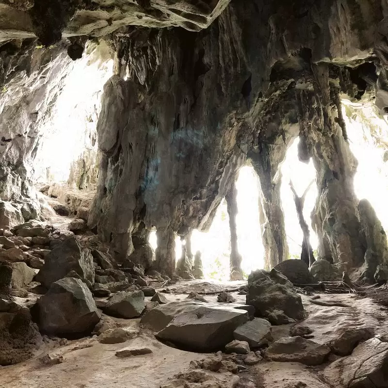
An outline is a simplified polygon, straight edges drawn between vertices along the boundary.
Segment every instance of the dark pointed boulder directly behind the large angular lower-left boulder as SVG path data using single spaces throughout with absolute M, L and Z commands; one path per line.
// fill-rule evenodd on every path
M 89 249 L 82 248 L 75 237 L 70 237 L 53 248 L 36 280 L 49 288 L 70 271 L 75 271 L 81 278 L 94 283 L 93 257 Z

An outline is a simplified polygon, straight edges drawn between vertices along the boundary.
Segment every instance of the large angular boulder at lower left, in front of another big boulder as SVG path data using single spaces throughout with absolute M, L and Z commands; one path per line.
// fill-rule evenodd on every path
M 92 293 L 80 279 L 66 277 L 51 284 L 38 301 L 39 327 L 63 336 L 89 334 L 100 320 Z

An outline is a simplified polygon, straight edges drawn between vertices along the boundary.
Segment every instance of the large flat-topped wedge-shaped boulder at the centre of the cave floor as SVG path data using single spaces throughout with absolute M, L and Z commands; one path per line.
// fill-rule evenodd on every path
M 194 302 L 187 309 L 189 303 L 184 303 L 181 312 L 157 333 L 159 339 L 197 352 L 219 350 L 233 340 L 233 331 L 248 321 L 248 313 L 244 310 Z M 171 311 L 169 305 L 171 303 L 155 307 L 147 315 L 163 310 L 163 307 Z

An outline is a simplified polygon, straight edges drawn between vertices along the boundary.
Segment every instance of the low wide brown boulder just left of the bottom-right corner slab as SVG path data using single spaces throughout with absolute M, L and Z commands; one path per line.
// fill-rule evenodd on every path
M 265 357 L 271 361 L 300 362 L 320 365 L 330 353 L 330 348 L 302 337 L 283 337 L 272 343 Z

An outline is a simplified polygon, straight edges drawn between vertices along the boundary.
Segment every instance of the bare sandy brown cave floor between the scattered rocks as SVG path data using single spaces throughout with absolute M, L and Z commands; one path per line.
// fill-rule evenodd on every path
M 168 301 L 182 300 L 190 291 L 213 292 L 234 289 L 244 282 L 215 283 L 205 281 L 182 281 L 170 286 L 171 294 L 165 294 Z M 236 303 L 245 301 L 244 295 L 233 292 Z M 206 295 L 209 301 L 216 301 L 217 294 Z M 149 300 L 150 298 L 146 298 Z M 307 311 L 304 324 L 313 331 L 313 340 L 329 343 L 344 336 L 347 330 L 360 327 L 373 328 L 374 335 L 388 341 L 388 308 L 372 298 L 360 298 L 354 294 L 323 294 L 323 302 L 340 301 L 348 307 L 325 307 L 310 302 L 302 295 Z M 259 364 L 239 373 L 236 384 L 230 372 L 209 372 L 206 383 L 189 382 L 181 384 L 173 379 L 182 372 L 190 372 L 190 362 L 210 355 L 186 352 L 169 347 L 153 334 L 139 327 L 140 319 L 119 320 L 122 326 L 137 328 L 140 335 L 125 343 L 102 344 L 97 338 L 69 340 L 63 346 L 58 341 L 47 342 L 36 356 L 17 365 L 0 368 L 0 388 L 329 388 L 322 373 L 328 363 L 339 356 L 330 356 L 326 364 L 307 367 L 293 362 L 270 362 L 263 359 Z M 274 339 L 289 335 L 292 324 L 273 326 Z M 152 354 L 118 358 L 115 352 L 124 349 L 148 347 Z M 62 356 L 57 365 L 42 365 L 39 358 L 45 354 Z M 214 380 L 211 379 L 214 376 Z

